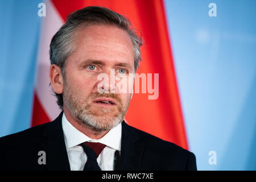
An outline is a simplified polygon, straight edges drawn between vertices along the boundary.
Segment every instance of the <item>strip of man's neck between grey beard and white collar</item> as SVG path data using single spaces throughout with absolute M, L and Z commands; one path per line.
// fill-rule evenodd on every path
M 63 111 L 69 123 L 71 123 L 71 125 L 73 125 L 77 130 L 79 130 L 81 133 L 85 134 L 87 137 L 91 139 L 100 139 L 109 132 L 109 130 L 94 131 L 90 129 L 90 127 L 83 125 L 75 117 L 73 117 L 73 114 L 67 109 L 67 107 L 64 107 Z

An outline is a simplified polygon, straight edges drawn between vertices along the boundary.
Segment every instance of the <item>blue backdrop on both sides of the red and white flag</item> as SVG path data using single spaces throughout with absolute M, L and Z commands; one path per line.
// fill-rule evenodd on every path
M 0 137 L 30 127 L 40 2 L 0 1 Z M 208 15 L 212 2 L 216 17 Z M 255 170 L 256 1 L 164 4 L 197 168 Z M 216 151 L 216 165 L 208 163 L 209 151 Z

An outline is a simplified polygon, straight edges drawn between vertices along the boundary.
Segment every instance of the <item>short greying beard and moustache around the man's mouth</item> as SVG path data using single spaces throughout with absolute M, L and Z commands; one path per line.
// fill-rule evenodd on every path
M 71 111 L 73 117 L 77 119 L 82 125 L 88 126 L 90 129 L 96 132 L 108 131 L 113 129 L 125 118 L 126 111 L 129 106 L 129 102 L 123 107 L 121 99 L 117 94 L 113 93 L 92 93 L 88 97 L 80 97 L 79 92 L 72 92 L 69 85 L 64 81 L 64 92 L 63 101 L 67 105 L 69 111 Z M 90 104 L 93 100 L 98 97 L 110 97 L 115 100 L 115 105 L 117 106 L 118 113 L 114 114 L 113 117 L 108 115 L 111 114 L 113 108 L 102 108 L 100 111 L 90 109 Z

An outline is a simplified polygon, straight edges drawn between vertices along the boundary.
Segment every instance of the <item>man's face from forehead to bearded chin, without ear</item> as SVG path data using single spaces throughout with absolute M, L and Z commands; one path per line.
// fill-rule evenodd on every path
M 129 35 L 114 26 L 92 25 L 75 32 L 76 51 L 65 68 L 63 100 L 73 116 L 95 131 L 110 130 L 125 117 L 131 93 L 110 93 L 118 90 L 110 82 L 110 69 L 115 75 L 134 73 L 133 44 Z M 97 77 L 105 73 L 109 82 L 99 88 Z M 127 82 L 127 87 L 133 82 Z M 101 91 L 102 91 L 101 90 Z

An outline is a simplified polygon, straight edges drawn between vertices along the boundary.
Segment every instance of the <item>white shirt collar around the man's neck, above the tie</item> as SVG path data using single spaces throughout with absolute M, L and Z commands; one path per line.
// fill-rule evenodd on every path
M 100 139 L 91 139 L 85 134 L 77 130 L 68 119 L 65 117 L 65 113 L 62 116 L 62 127 L 64 133 L 65 144 L 67 148 L 72 148 L 80 143 L 84 142 L 100 142 L 108 147 L 114 148 L 115 150 L 121 151 L 121 135 L 122 125 L 119 123 L 113 129 L 111 129 L 104 137 Z

